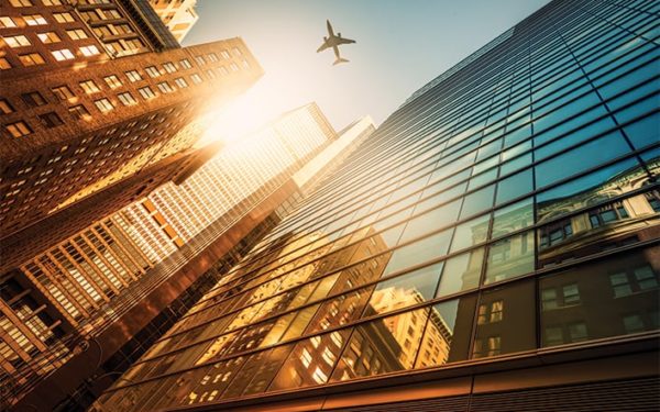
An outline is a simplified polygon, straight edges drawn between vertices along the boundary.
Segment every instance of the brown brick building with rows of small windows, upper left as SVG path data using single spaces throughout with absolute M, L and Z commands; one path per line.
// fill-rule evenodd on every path
M 174 178 L 189 124 L 263 73 L 240 38 L 180 48 L 141 1 L 12 0 L 0 24 L 3 271 Z

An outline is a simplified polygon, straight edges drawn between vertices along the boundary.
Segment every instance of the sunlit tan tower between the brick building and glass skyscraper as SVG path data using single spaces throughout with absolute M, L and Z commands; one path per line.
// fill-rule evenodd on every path
M 338 142 L 352 148 L 346 137 L 362 143 L 373 130 L 363 120 L 338 136 L 315 103 L 293 110 L 219 145 L 179 186 L 157 189 L 6 274 L 6 404 L 91 403 L 280 221 L 297 170 L 332 165 L 333 157 L 315 156 Z M 258 163 L 245 165 L 248 157 Z

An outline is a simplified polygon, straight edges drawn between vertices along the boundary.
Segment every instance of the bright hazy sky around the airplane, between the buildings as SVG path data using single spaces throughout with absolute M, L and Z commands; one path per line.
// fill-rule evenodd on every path
M 183 45 L 242 37 L 265 75 L 217 116 L 229 141 L 280 113 L 317 102 L 336 130 L 363 115 L 376 125 L 415 90 L 508 30 L 548 0 L 198 0 Z M 350 63 L 332 66 L 334 33 Z

